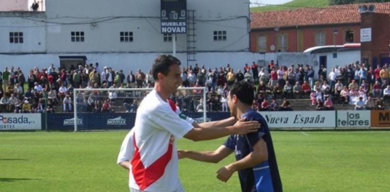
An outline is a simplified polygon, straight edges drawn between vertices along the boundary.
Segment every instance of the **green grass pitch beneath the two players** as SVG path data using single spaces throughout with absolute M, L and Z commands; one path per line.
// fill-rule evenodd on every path
M 0 191 L 128 191 L 127 171 L 116 165 L 125 131 L 0 132 Z M 387 191 L 389 131 L 272 131 L 285 191 Z M 214 150 L 224 139 L 179 149 Z M 240 191 L 215 172 L 233 161 L 179 161 L 186 191 Z

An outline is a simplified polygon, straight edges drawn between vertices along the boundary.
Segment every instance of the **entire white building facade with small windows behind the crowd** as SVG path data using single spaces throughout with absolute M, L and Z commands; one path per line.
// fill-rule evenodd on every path
M 84 57 L 126 73 L 147 71 L 157 55 L 172 53 L 174 35 L 160 31 L 160 1 L 51 0 L 42 7 L 46 11 L 0 12 L 2 68 L 20 66 L 26 73 L 34 66 L 60 67 L 60 57 Z M 197 61 L 189 65 L 238 69 L 258 60 L 249 52 L 249 0 L 187 1 L 187 10 L 196 17 Z M 176 50 L 186 65 L 186 34 L 177 34 Z

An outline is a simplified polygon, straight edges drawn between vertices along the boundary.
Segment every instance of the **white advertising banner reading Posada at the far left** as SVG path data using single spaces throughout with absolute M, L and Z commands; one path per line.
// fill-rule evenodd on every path
M 0 130 L 41 130 L 40 113 L 0 113 Z

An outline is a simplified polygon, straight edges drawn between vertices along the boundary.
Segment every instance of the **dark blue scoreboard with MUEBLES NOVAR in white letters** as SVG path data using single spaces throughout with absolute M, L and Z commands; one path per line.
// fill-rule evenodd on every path
M 161 33 L 187 32 L 186 0 L 161 0 Z

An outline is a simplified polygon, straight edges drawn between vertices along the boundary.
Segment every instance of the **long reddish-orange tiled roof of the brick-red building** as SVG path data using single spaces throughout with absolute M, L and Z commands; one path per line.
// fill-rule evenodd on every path
M 390 3 L 371 3 L 375 5 L 376 13 L 390 14 Z M 283 11 L 268 11 L 251 13 L 252 29 L 275 27 L 295 27 L 324 24 L 360 23 L 360 5 L 352 4 L 329 6 L 323 8 L 300 8 Z

